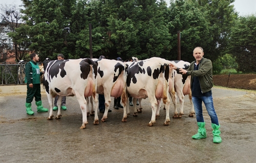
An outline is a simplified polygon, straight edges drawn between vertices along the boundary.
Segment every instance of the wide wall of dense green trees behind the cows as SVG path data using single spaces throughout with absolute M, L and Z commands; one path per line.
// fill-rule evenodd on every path
M 132 56 L 139 59 L 177 59 L 177 31 L 181 31 L 181 59 L 194 61 L 192 51 L 204 48 L 214 62 L 227 50 L 231 26 L 237 18 L 233 0 L 22 0 L 25 25 L 11 37 L 27 42 L 40 60 L 90 57 L 92 24 L 94 58 Z M 26 38 L 26 36 L 29 36 Z

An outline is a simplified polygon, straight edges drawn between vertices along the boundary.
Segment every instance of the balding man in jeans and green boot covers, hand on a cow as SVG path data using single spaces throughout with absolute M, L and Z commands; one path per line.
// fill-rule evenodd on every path
M 204 58 L 204 52 L 202 47 L 196 47 L 193 50 L 193 56 L 196 61 L 193 61 L 187 70 L 178 68 L 173 64 L 169 64 L 171 69 L 177 70 L 178 73 L 191 75 L 191 92 L 194 108 L 196 111 L 198 133 L 193 135 L 193 139 L 206 138 L 205 122 L 203 118 L 202 102 L 206 107 L 208 115 L 211 119 L 211 127 L 214 129 L 214 143 L 221 143 L 220 137 L 220 125 L 217 114 L 214 109 L 214 102 L 212 101 L 212 63 L 210 60 Z

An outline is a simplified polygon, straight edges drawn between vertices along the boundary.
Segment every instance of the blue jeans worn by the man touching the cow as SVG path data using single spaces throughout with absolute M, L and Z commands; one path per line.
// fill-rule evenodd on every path
M 208 115 L 210 116 L 211 123 L 219 125 L 218 117 L 214 109 L 214 102 L 212 101 L 212 95 L 202 97 L 192 97 L 194 108 L 197 116 L 197 122 L 204 122 L 202 101 L 206 107 Z

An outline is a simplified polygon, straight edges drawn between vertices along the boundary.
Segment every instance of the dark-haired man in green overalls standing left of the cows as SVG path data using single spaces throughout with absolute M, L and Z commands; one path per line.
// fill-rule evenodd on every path
M 25 83 L 27 83 L 26 110 L 28 115 L 33 115 L 34 112 L 31 110 L 31 102 L 34 97 L 37 112 L 48 112 L 48 109 L 42 106 L 41 101 L 40 75 L 42 75 L 42 72 L 40 72 L 39 66 L 37 65 L 39 57 L 37 53 L 32 53 L 30 58 L 31 61 L 28 62 L 25 67 Z

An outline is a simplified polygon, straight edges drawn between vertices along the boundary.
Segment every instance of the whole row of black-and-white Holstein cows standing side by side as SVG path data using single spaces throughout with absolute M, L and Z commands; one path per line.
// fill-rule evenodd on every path
M 59 95 L 56 119 L 60 119 L 60 105 L 62 96 L 76 96 L 81 111 L 81 129 L 88 124 L 87 117 L 94 115 L 94 124 L 99 124 L 98 98 L 96 94 L 102 94 L 105 98 L 105 112 L 101 122 L 108 118 L 111 97 L 121 96 L 123 104 L 122 122 L 127 121 L 130 115 L 129 97 L 133 99 L 133 115 L 141 112 L 136 108 L 137 98 L 148 98 L 152 107 L 152 118 L 148 126 L 153 126 L 159 116 L 161 102 L 164 103 L 166 117 L 164 125 L 169 125 L 170 97 L 174 103 L 173 118 L 181 118 L 183 115 L 184 95 L 189 95 L 191 110 L 189 116 L 194 116 L 194 106 L 191 100 L 190 76 L 178 74 L 176 70 L 169 68 L 169 63 L 176 64 L 179 68 L 188 68 L 190 63 L 184 61 L 167 61 L 162 58 L 150 58 L 138 60 L 131 58 L 129 62 L 121 62 L 108 59 L 76 59 L 53 60 L 46 59 L 43 62 L 46 94 L 49 100 L 50 113 L 48 120 L 53 119 L 53 97 Z M 180 112 L 177 109 L 177 96 L 180 101 Z M 169 94 L 169 95 L 168 95 Z M 89 109 L 89 97 L 91 107 Z

